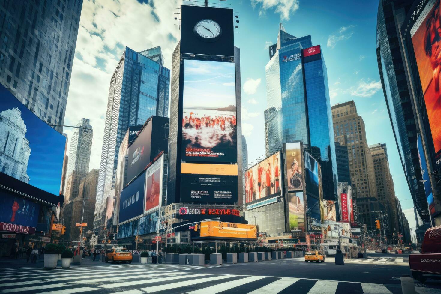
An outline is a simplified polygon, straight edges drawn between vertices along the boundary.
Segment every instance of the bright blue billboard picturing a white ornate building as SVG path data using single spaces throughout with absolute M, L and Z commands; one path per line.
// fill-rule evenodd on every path
M 66 137 L 2 85 L 0 97 L 0 172 L 59 196 Z

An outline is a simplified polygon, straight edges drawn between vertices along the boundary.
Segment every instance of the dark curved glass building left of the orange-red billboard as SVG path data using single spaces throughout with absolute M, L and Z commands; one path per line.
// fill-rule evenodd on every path
M 427 200 L 421 182 L 417 134 L 409 71 L 404 60 L 400 29 L 413 0 L 380 0 L 377 14 L 377 63 L 393 134 L 404 175 L 419 216 L 428 221 Z

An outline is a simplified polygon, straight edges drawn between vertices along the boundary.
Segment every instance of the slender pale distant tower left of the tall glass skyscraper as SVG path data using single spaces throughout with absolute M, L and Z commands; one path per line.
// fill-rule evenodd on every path
M 70 139 L 69 161 L 67 162 L 66 175 L 69 179 L 73 171 L 89 172 L 90 153 L 92 152 L 93 129 L 90 119 L 82 118 L 76 125 L 85 129 L 75 128 Z M 67 182 L 66 182 L 67 185 Z M 64 188 L 65 189 L 65 188 Z

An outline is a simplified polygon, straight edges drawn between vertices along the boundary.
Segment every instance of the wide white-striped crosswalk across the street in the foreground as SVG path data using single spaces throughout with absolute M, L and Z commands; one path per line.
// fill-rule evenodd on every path
M 0 270 L 1 293 L 392 293 L 381 284 L 261 275 L 218 274 L 222 266 L 131 264 L 72 266 L 69 269 L 8 268 Z M 203 271 L 196 271 L 201 269 Z

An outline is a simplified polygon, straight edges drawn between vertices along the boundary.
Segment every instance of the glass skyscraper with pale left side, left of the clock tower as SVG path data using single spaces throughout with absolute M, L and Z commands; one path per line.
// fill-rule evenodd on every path
M 170 70 L 161 47 L 135 52 L 126 47 L 110 81 L 93 230 L 99 234 L 106 198 L 115 188 L 121 141 L 128 127 L 152 116 L 168 116 Z

